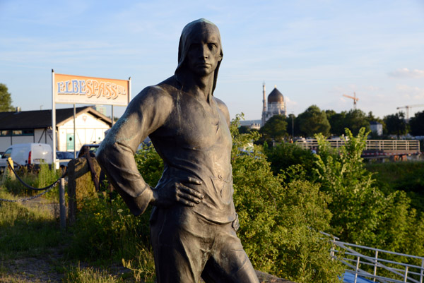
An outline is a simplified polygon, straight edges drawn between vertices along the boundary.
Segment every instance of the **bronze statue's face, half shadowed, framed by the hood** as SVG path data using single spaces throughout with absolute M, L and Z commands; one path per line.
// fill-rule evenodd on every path
M 221 61 L 219 34 L 211 25 L 202 25 L 191 38 L 187 53 L 187 67 L 192 73 L 207 76 Z

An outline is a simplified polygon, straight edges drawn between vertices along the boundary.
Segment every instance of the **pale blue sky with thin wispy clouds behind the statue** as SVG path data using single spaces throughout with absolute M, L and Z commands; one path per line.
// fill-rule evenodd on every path
M 134 97 L 172 76 L 181 30 L 198 18 L 220 29 L 215 95 L 232 117 L 260 119 L 263 82 L 295 115 L 312 104 L 348 111 L 353 100 L 343 94 L 353 92 L 358 109 L 381 118 L 424 104 L 423 0 L 0 0 L 0 83 L 22 110 L 51 109 L 52 68 L 131 76 Z

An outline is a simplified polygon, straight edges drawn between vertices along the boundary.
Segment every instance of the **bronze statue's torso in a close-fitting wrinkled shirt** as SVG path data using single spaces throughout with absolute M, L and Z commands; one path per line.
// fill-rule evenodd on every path
M 165 124 L 150 134 L 165 163 L 158 188 L 170 180 L 184 183 L 188 176 L 200 179 L 202 185 L 189 186 L 203 193 L 204 199 L 184 209 L 192 209 L 213 222 L 231 222 L 235 219 L 232 140 L 223 112 L 213 98 L 209 103 L 169 85 L 160 88 L 169 93 L 173 105 Z

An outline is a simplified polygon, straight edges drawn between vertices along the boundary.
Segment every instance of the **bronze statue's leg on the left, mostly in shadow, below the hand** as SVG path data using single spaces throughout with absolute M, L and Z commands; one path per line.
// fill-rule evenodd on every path
M 151 241 L 158 283 L 198 283 L 210 256 L 208 239 L 196 216 L 156 207 L 151 221 Z M 206 233 L 204 233 L 206 232 Z

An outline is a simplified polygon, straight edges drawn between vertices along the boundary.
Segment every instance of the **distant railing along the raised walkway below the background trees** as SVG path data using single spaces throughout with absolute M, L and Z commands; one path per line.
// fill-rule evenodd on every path
M 346 140 L 326 140 L 331 147 L 341 147 L 346 145 Z M 296 144 L 302 148 L 312 149 L 318 147 L 316 139 L 296 140 Z M 367 140 L 365 150 L 407 150 L 420 152 L 419 140 Z

